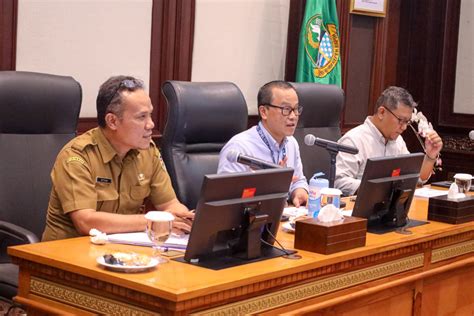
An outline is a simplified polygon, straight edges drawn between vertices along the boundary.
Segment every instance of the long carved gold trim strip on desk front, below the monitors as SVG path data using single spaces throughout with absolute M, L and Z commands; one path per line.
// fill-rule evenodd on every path
M 247 315 L 260 313 L 276 307 L 296 303 L 312 297 L 371 282 L 397 273 L 423 266 L 424 256 L 418 254 L 408 258 L 387 262 L 370 268 L 344 273 L 300 286 L 261 295 L 245 301 L 212 308 L 192 315 Z

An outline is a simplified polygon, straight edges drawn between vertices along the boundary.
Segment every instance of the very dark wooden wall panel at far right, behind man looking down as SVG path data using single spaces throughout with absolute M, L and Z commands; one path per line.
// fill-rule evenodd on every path
M 398 82 L 419 102 L 444 142 L 443 170 L 432 180 L 473 172 L 474 141 L 468 133 L 474 129 L 474 115 L 453 110 L 460 5 L 461 0 L 404 0 L 400 7 Z M 418 146 L 416 141 L 408 145 L 410 150 Z

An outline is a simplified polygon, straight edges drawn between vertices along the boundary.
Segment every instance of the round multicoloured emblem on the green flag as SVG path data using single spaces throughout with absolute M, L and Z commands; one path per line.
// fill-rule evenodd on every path
M 321 14 L 313 15 L 305 26 L 304 48 L 311 60 L 313 74 L 326 77 L 337 65 L 340 55 L 339 36 L 335 24 L 323 23 Z

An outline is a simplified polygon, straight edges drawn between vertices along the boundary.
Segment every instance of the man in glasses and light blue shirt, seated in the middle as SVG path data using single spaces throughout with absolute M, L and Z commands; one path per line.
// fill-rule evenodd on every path
M 258 92 L 258 125 L 235 135 L 222 148 L 218 173 L 250 170 L 238 162 L 227 160 L 233 150 L 275 164 L 293 168 L 290 201 L 294 206 L 308 201 L 308 183 L 303 174 L 298 142 L 293 137 L 303 107 L 298 104 L 296 91 L 288 82 L 271 81 Z

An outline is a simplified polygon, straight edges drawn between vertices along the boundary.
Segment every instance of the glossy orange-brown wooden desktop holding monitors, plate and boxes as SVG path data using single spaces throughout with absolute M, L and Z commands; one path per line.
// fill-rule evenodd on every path
M 426 219 L 426 213 L 427 200 L 415 199 L 409 213 L 410 217 Z M 469 241 L 473 239 L 474 224 L 471 222 L 451 225 L 430 222 L 411 230 L 413 231 L 411 235 L 395 232 L 384 235 L 369 233 L 365 247 L 332 255 L 299 251 L 299 254 L 302 255 L 300 260 L 280 257 L 219 271 L 175 261 L 142 273 L 126 274 L 108 271 L 96 263 L 98 256 L 111 250 L 133 250 L 151 255 L 152 250 L 129 245 L 93 245 L 89 242 L 88 237 L 11 247 L 9 254 L 20 265 L 20 273 L 25 274 L 32 263 L 37 265 L 33 272 L 28 270 L 28 279 L 23 282 L 31 282 L 30 274 L 32 276 L 37 274 L 46 280 L 57 279 L 59 274 L 48 270 L 54 268 L 70 273 L 70 275 L 97 280 L 103 284 L 119 285 L 121 288 L 132 290 L 132 292 L 146 293 L 146 295 L 160 298 L 160 306 L 171 304 L 173 305 L 171 309 L 176 311 L 186 310 L 189 307 L 202 308 L 204 305 L 215 306 L 222 304 L 222 302 L 232 302 L 234 298 L 235 300 L 248 298 L 252 295 L 268 293 L 272 289 L 282 289 L 290 284 L 308 282 L 315 277 L 330 275 L 336 270 L 339 272 L 350 271 L 368 267 L 371 264 L 380 265 L 404 256 L 423 256 L 425 254 L 425 257 L 421 259 L 421 265 L 423 265 L 429 259 L 426 258 L 427 243 L 431 242 L 430 248 L 436 248 L 454 242 Z M 280 231 L 277 237 L 285 247 L 293 248 L 292 234 Z M 67 284 L 70 278 L 66 277 L 59 282 Z M 32 296 L 29 292 L 31 284 L 22 284 L 19 297 L 31 299 Z M 84 284 L 82 288 L 84 288 Z M 184 305 L 177 307 L 180 302 Z

